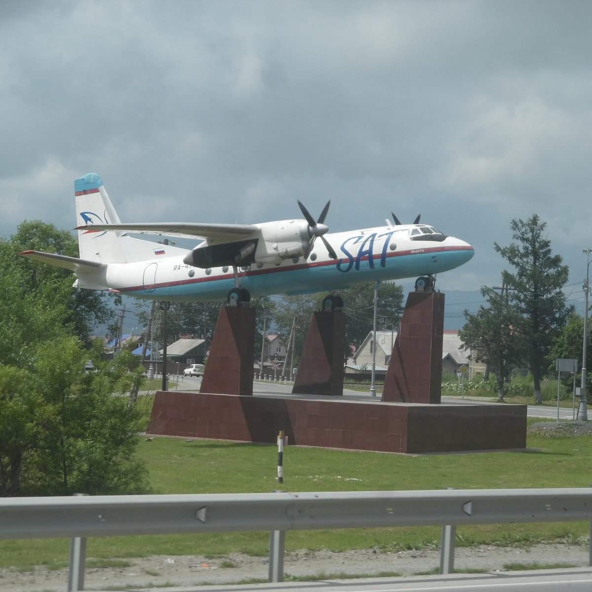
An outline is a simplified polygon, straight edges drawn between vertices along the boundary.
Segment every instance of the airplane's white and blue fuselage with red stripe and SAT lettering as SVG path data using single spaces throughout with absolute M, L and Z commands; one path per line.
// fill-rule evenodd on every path
M 303 257 L 281 263 L 253 263 L 239 268 L 243 288 L 253 296 L 335 291 L 359 282 L 386 281 L 449 271 L 474 255 L 470 244 L 451 236 L 438 240 L 414 237 L 414 226 L 383 226 L 326 234 L 337 253 L 329 258 L 323 244 Z M 432 240 L 427 240 L 432 239 Z M 106 268 L 78 272 L 79 286 L 115 289 L 134 297 L 156 300 L 224 300 L 234 286 L 228 266 L 201 269 L 179 256 L 167 256 L 166 246 L 154 259 L 109 263 Z

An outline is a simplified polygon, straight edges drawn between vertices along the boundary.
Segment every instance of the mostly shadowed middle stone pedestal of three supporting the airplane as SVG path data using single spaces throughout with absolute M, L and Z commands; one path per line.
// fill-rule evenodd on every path
M 345 314 L 314 313 L 294 379 L 294 394 L 343 395 Z

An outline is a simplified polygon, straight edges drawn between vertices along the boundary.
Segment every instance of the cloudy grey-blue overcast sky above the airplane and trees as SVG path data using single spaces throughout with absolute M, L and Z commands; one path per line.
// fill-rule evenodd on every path
M 101 175 L 123 221 L 333 231 L 391 210 L 475 247 L 438 287 L 498 285 L 512 218 L 548 223 L 583 308 L 592 2 L 0 2 L 0 235 L 75 226 Z

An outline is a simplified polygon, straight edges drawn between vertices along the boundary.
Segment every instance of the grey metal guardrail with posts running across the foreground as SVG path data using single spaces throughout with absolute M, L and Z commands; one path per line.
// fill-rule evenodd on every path
M 69 590 L 83 589 L 91 536 L 269 530 L 269 578 L 281 581 L 287 530 L 447 527 L 440 571 L 448 573 L 450 525 L 580 520 L 592 522 L 591 488 L 0 498 L 1 539 L 72 539 Z

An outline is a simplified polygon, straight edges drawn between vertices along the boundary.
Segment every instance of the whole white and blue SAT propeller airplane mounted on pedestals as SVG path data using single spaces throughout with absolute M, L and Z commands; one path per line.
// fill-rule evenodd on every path
M 343 302 L 333 292 L 352 284 L 418 276 L 416 290 L 433 291 L 436 274 L 474 255 L 470 244 L 421 224 L 419 216 L 401 224 L 393 213 L 386 226 L 329 233 L 330 201 L 317 220 L 298 201 L 303 219 L 123 224 L 99 175 L 76 179 L 74 188 L 79 258 L 36 250 L 20 255 L 70 269 L 76 287 L 150 300 L 248 305 L 251 295 L 329 291 L 324 310 L 338 310 Z M 129 233 L 199 241 L 184 249 Z

